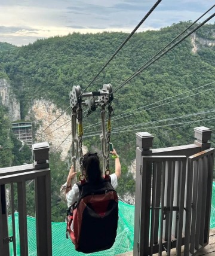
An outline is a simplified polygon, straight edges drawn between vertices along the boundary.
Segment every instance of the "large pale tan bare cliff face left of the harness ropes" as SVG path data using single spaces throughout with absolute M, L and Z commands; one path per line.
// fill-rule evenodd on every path
M 26 118 L 35 120 L 35 125 L 38 127 L 36 129 L 35 142 L 47 141 L 50 144 L 50 151 L 55 151 L 56 149 L 57 151 L 62 151 L 61 157 L 64 160 L 70 149 L 72 136 L 69 135 L 71 133 L 70 115 L 64 113 L 56 120 L 62 112 L 63 109 L 58 109 L 54 103 L 41 99 L 33 102 Z M 56 121 L 51 124 L 54 120 Z M 51 126 L 43 132 L 49 124 Z M 62 126 L 63 124 L 65 125 Z M 67 136 L 68 138 L 66 139 Z M 66 140 L 64 141 L 64 139 Z M 83 152 L 85 153 L 85 151 L 84 148 Z

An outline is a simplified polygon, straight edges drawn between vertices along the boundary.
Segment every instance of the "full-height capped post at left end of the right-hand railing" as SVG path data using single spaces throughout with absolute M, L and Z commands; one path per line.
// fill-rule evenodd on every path
M 152 155 L 153 136 L 148 132 L 136 133 L 136 193 L 134 213 L 134 256 L 148 255 L 149 219 L 151 204 L 151 166 L 143 166 L 142 156 Z M 150 163 L 151 164 L 151 163 Z

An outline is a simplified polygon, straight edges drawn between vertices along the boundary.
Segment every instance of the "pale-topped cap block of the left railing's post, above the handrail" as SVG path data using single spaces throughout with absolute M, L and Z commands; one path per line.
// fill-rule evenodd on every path
M 35 170 L 48 168 L 48 153 L 50 150 L 50 145 L 48 142 L 35 143 L 32 145 L 32 150 L 34 155 Z

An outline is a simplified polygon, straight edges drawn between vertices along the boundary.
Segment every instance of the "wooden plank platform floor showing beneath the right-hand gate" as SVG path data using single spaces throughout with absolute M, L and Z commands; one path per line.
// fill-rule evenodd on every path
M 167 255 L 166 252 L 162 252 L 162 256 Z M 171 256 L 176 255 L 176 249 L 171 249 Z M 183 248 L 182 248 L 182 256 Z M 202 249 L 196 256 L 207 255 L 207 256 L 215 256 L 215 228 L 210 230 L 210 239 L 209 244 Z M 119 254 L 116 256 L 133 256 L 133 252 L 125 252 L 124 254 Z M 153 254 L 153 256 L 158 256 L 158 254 Z

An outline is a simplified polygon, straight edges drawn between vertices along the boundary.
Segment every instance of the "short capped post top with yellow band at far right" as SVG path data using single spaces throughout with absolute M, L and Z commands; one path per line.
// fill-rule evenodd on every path
M 200 126 L 200 127 L 195 127 L 194 132 L 195 132 L 195 139 L 196 139 L 194 144 L 200 146 L 201 151 L 208 150 L 208 148 L 210 148 L 211 146 L 210 142 L 208 141 L 211 139 L 212 130 L 204 126 Z

